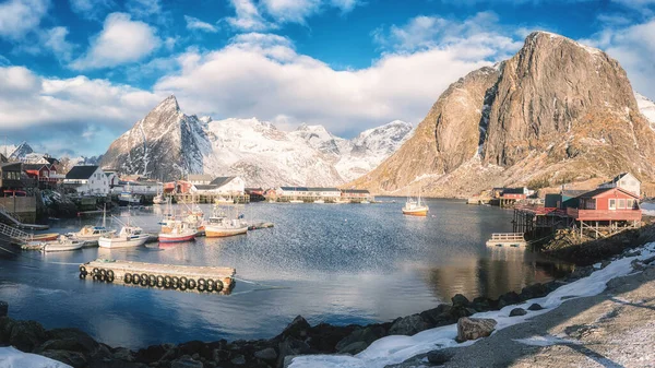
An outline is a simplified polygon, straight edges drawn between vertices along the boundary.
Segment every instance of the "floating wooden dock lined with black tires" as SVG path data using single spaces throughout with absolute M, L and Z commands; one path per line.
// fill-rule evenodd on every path
M 224 295 L 235 287 L 235 274 L 236 270 L 231 268 L 100 259 L 80 264 L 80 278 L 91 277 L 97 282 Z

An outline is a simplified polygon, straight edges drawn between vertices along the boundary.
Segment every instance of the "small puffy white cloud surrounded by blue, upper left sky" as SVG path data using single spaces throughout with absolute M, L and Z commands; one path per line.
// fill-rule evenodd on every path
M 132 21 L 129 14 L 107 15 L 103 31 L 92 39 L 86 54 L 74 60 L 74 70 L 100 69 L 135 62 L 151 55 L 162 40 L 150 25 Z

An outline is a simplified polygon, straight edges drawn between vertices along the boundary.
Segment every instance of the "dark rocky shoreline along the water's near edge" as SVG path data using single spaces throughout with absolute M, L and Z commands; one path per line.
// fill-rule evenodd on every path
M 0 345 L 12 345 L 25 353 L 39 354 L 75 368 L 182 368 L 182 367 L 285 367 L 289 356 L 307 354 L 350 354 L 366 349 L 373 341 L 388 335 L 414 335 L 420 331 L 457 323 L 481 311 L 543 297 L 568 282 L 584 277 L 593 268 L 579 268 L 563 281 L 535 284 L 521 293 L 510 292 L 498 299 L 478 297 L 468 300 L 455 295 L 452 304 L 441 304 L 392 322 L 360 325 L 310 325 L 298 316 L 277 336 L 270 340 L 227 342 L 190 341 L 181 344 L 152 345 L 139 351 L 111 347 L 96 342 L 78 329 L 45 330 L 35 321 L 8 317 L 8 306 L 0 308 Z M 538 309 L 539 306 L 533 308 Z M 516 310 L 520 316 L 521 310 Z M 285 361 L 286 360 L 286 361 Z

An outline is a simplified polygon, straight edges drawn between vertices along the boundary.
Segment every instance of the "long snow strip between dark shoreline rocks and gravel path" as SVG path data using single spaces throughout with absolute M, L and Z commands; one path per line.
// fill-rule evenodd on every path
M 575 297 L 588 297 L 600 294 L 608 281 L 628 275 L 632 272 L 630 264 L 634 259 L 646 259 L 655 254 L 655 242 L 643 247 L 641 256 L 627 257 L 609 263 L 605 269 L 595 271 L 590 276 L 563 285 L 549 295 L 527 300 L 520 305 L 507 306 L 501 310 L 475 313 L 474 318 L 492 318 L 498 324 L 496 330 L 523 323 L 532 317 L 547 313 L 559 307 L 564 300 Z M 508 317 L 514 308 L 527 309 L 537 302 L 544 307 L 539 311 L 531 311 L 525 316 Z M 382 368 L 386 365 L 400 364 L 416 355 L 445 347 L 467 346 L 475 342 L 457 344 L 457 325 L 451 324 L 426 330 L 414 336 L 386 336 L 373 342 L 366 351 L 355 356 L 343 355 L 309 355 L 294 358 L 289 368 Z M 524 342 L 525 343 L 525 342 Z M 545 344 L 547 342 L 533 341 Z

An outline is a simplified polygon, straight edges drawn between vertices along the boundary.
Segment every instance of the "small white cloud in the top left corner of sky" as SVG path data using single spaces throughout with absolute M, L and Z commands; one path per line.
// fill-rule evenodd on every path
M 40 24 L 49 0 L 9 0 L 0 3 L 0 37 L 20 39 Z

